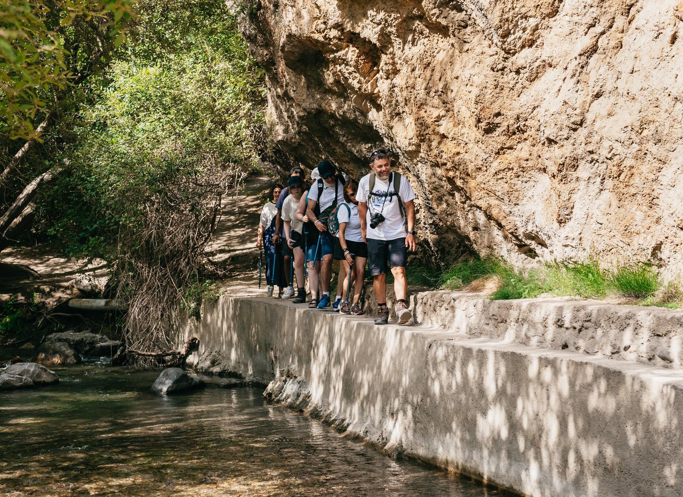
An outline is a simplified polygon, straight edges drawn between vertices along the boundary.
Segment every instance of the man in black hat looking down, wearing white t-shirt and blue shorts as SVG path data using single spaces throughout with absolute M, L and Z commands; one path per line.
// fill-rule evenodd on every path
M 332 261 L 335 238 L 327 231 L 327 218 L 339 202 L 344 202 L 344 179 L 337 175 L 337 170 L 330 161 L 318 164 L 320 179 L 311 185 L 308 192 L 306 215 L 310 227 L 308 230 L 306 260 L 313 260 L 322 256 L 320 265 L 320 284 L 322 297 L 317 304 L 318 309 L 330 306 L 330 280 L 332 278 Z M 317 236 L 316 236 L 317 234 Z M 313 301 L 309 307 L 313 306 Z

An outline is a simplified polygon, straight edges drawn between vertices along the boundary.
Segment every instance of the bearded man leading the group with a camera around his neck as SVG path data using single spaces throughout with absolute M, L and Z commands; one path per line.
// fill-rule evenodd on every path
M 389 321 L 389 260 L 396 293 L 394 310 L 398 324 L 402 325 L 413 317 L 406 301 L 406 252 L 415 250 L 415 192 L 407 178 L 391 171 L 391 159 L 387 150 L 375 150 L 370 154 L 370 168 L 372 173 L 366 174 L 359 181 L 356 198 L 363 239 L 367 242 L 367 262 L 373 279 L 372 286 L 377 298 L 375 324 L 385 325 Z

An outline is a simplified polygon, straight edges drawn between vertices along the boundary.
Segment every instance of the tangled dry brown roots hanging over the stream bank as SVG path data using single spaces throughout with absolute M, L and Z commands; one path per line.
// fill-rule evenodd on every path
M 242 183 L 245 170 L 209 167 L 201 176 L 176 178 L 144 192 L 137 203 L 143 222 L 120 237 L 115 268 L 117 294 L 128 303 L 124 340 L 128 349 L 173 349 L 180 340 L 186 290 L 211 270 L 204 249 L 229 187 Z M 137 367 L 156 367 L 154 358 L 137 357 Z

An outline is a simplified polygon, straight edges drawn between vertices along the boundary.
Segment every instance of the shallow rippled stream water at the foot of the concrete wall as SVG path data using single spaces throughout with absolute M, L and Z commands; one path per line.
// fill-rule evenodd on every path
M 499 496 L 289 409 L 262 389 L 155 397 L 156 372 L 57 368 L 0 392 L 0 496 Z

